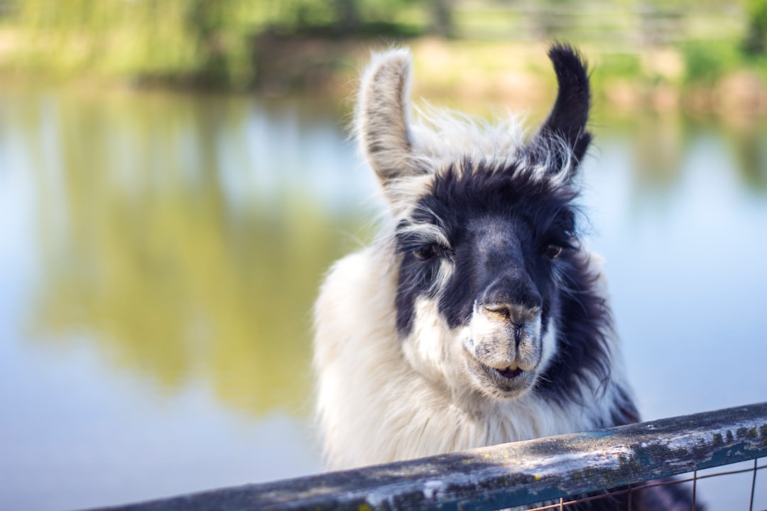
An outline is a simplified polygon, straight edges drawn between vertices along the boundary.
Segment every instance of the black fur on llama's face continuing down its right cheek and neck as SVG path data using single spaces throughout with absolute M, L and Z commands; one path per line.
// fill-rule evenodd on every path
M 462 167 L 463 172 L 449 169 L 436 176 L 410 223 L 400 225 L 400 335 L 413 328 L 418 296 L 437 297 L 439 312 L 456 328 L 469 322 L 475 301 L 492 280 L 504 272 L 525 274 L 518 280 L 520 292 L 537 294 L 543 324 L 553 315 L 558 328 L 558 354 L 537 391 L 555 400 L 579 400 L 575 389 L 580 386 L 574 382 L 587 375 L 609 377 L 606 336 L 611 334 L 611 316 L 595 289 L 588 260 L 575 248 L 577 192 L 514 166 L 479 165 L 475 172 L 468 171 L 467 162 Z M 412 224 L 439 227 L 449 245 L 413 234 Z M 563 247 L 555 260 L 545 253 L 551 245 Z M 436 276 L 443 260 L 449 261 L 452 274 L 438 290 Z M 625 409 L 615 415 L 623 424 L 636 411 L 626 400 Z

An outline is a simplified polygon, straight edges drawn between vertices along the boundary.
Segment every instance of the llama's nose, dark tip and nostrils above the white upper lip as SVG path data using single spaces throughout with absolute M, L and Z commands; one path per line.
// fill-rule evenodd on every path
M 496 321 L 522 324 L 541 313 L 543 300 L 529 278 L 508 276 L 495 280 L 482 293 L 479 310 Z

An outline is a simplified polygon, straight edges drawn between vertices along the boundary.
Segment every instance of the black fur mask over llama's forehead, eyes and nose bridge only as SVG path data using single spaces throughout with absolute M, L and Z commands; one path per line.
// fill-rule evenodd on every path
M 535 275 L 535 293 L 550 296 L 554 268 L 543 253 L 551 244 L 572 247 L 574 193 L 569 188 L 541 182 L 513 167 L 496 172 L 483 168 L 471 172 L 467 167 L 464 162 L 463 172 L 450 169 L 436 177 L 410 224 L 398 230 L 402 262 L 397 326 L 403 335 L 412 327 L 416 297 L 436 296 L 434 279 L 444 259 L 452 265 L 453 276 L 439 296 L 439 310 L 455 328 L 469 321 L 473 304 L 489 280 L 514 264 Z M 439 246 L 403 229 L 412 224 L 437 226 L 449 245 Z M 420 260 L 416 251 L 425 247 L 434 257 Z M 543 302 L 550 309 L 550 301 Z

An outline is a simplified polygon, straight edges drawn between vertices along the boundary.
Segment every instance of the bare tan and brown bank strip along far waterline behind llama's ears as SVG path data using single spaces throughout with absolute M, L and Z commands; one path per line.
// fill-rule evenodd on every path
M 414 38 L 413 94 L 482 110 L 502 104 L 537 110 L 555 88 L 548 42 Z M 636 50 L 579 44 L 588 58 L 595 103 L 617 110 L 767 114 L 767 65 L 744 57 L 735 42 L 686 43 Z M 261 81 L 267 95 L 301 93 L 347 97 L 359 67 L 380 41 L 274 40 L 262 45 Z M 268 49 L 267 49 L 268 48 Z

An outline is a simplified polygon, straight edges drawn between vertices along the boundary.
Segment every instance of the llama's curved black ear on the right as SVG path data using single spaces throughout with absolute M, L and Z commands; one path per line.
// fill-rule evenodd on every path
M 559 172 L 565 165 L 574 169 L 591 142 L 591 133 L 586 130 L 591 90 L 587 66 L 578 51 L 566 44 L 555 44 L 549 49 L 548 57 L 554 64 L 559 90 L 554 108 L 532 140 L 530 149 L 534 160 L 543 157 L 556 167 L 550 172 Z M 566 144 L 569 155 L 562 154 L 561 149 L 565 148 L 561 142 Z

